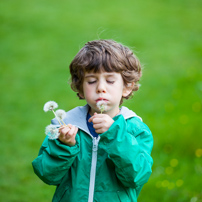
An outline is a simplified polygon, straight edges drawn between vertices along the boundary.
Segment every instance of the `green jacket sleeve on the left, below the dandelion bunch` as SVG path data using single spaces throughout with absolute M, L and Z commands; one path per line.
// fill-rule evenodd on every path
M 34 172 L 45 183 L 57 185 L 68 172 L 80 151 L 80 139 L 76 135 L 76 145 L 69 147 L 59 140 L 46 138 L 38 157 L 32 162 Z

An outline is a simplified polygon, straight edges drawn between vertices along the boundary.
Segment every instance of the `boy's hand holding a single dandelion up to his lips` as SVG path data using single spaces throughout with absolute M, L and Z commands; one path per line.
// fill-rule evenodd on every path
M 91 116 L 88 121 L 93 122 L 93 128 L 95 128 L 95 132 L 98 134 L 106 132 L 114 123 L 114 120 L 109 115 L 97 113 Z

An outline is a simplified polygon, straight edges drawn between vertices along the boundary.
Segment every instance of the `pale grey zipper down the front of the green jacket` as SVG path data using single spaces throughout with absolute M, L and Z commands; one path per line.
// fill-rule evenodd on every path
M 98 136 L 97 138 L 96 137 L 93 138 L 88 202 L 93 202 L 94 189 L 95 189 L 96 165 L 97 165 L 97 151 L 98 151 L 99 140 L 100 140 L 100 136 Z

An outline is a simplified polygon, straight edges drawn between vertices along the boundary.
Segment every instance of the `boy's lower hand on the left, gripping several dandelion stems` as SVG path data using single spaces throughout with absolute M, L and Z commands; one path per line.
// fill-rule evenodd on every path
M 76 144 L 75 137 L 77 132 L 78 128 L 71 124 L 68 124 L 67 126 L 61 126 L 59 128 L 60 135 L 58 139 L 68 146 L 74 146 Z

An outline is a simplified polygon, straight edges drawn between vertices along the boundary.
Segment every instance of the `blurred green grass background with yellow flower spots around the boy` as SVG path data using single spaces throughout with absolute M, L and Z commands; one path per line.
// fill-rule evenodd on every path
M 0 1 L 0 201 L 51 201 L 55 187 L 32 160 L 53 118 L 49 100 L 77 99 L 68 65 L 85 42 L 114 39 L 144 65 L 124 104 L 154 135 L 153 174 L 139 202 L 202 201 L 202 2 L 200 0 Z

